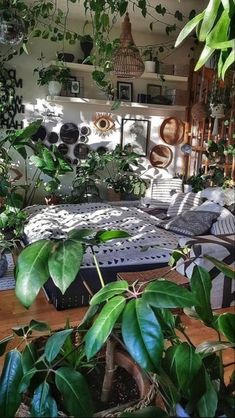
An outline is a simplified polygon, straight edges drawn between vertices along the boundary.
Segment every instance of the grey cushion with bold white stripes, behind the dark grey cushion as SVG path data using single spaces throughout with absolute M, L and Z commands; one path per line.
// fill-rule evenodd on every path
M 200 197 L 196 193 L 176 193 L 173 195 L 167 216 L 173 218 L 174 216 L 180 215 L 191 208 L 194 208 L 202 203 Z

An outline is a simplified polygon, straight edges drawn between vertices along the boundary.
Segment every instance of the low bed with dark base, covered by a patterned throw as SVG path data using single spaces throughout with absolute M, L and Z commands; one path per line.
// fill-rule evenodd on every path
M 157 226 L 158 219 L 134 207 L 116 207 L 104 203 L 80 205 L 37 205 L 28 207 L 24 228 L 26 243 L 39 239 L 61 238 L 71 229 L 120 229 L 129 239 L 112 241 L 94 247 L 104 280 L 114 281 L 118 272 L 144 271 L 167 265 L 170 254 L 182 235 Z M 58 310 L 89 303 L 90 295 L 100 285 L 90 249 L 87 249 L 77 279 L 64 295 L 51 279 L 45 284 L 48 299 Z

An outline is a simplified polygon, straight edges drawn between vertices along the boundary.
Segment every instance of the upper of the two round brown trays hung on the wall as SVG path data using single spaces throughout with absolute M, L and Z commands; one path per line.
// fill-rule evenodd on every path
M 168 145 L 179 145 L 184 139 L 184 123 L 174 117 L 167 118 L 161 124 L 160 135 Z

